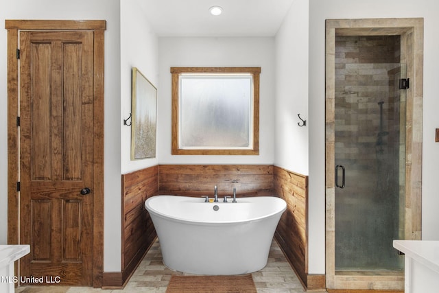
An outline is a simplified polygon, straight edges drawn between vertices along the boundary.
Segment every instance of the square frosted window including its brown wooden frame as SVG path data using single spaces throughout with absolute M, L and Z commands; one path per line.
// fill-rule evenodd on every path
M 173 154 L 257 154 L 259 72 L 195 69 L 173 77 Z

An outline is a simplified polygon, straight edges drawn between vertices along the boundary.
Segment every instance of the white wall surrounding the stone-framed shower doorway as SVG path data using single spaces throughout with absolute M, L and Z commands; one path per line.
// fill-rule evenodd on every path
M 439 66 L 437 28 L 439 2 L 435 0 L 309 1 L 309 215 L 316 226 L 309 237 L 324 243 L 324 48 L 325 19 L 370 19 L 423 17 L 424 113 L 423 113 L 423 239 L 439 240 L 439 143 L 434 130 L 439 127 L 439 99 L 436 89 Z M 313 212 L 311 213 L 311 210 Z M 311 247 L 309 255 L 321 248 Z M 324 258 L 309 263 L 310 273 L 324 272 Z

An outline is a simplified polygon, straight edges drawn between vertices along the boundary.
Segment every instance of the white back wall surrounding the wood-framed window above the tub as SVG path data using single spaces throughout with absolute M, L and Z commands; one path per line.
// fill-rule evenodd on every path
M 274 38 L 158 38 L 158 163 L 272 164 L 274 162 Z M 171 155 L 170 67 L 261 67 L 259 156 Z

